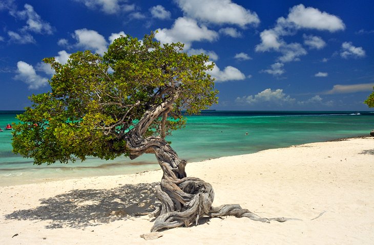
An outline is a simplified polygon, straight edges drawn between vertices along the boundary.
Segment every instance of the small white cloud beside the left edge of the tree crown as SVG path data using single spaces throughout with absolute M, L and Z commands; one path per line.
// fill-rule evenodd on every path
M 24 61 L 17 62 L 17 73 L 14 79 L 24 81 L 31 90 L 36 90 L 48 84 L 47 78 L 37 75 L 33 66 Z

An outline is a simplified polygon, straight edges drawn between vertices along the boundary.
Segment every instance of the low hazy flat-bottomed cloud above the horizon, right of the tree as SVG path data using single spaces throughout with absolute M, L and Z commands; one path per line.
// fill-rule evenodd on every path
M 258 103 L 274 103 L 277 105 L 282 104 L 292 104 L 296 100 L 291 98 L 289 95 L 283 93 L 283 90 L 271 90 L 267 88 L 266 90 L 258 93 L 257 95 L 249 95 L 243 97 L 237 97 L 235 102 L 244 104 L 258 104 Z

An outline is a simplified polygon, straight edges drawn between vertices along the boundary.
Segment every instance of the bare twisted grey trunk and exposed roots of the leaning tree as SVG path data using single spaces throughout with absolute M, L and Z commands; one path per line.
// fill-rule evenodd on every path
M 167 141 L 160 137 L 143 137 L 148 126 L 162 113 L 167 112 L 177 98 L 176 95 L 156 108 L 148 110 L 126 136 L 131 159 L 143 153 L 154 153 L 163 171 L 161 185 L 156 190 L 161 207 L 154 212 L 157 218 L 151 231 L 197 225 L 199 218 L 203 215 L 211 217 L 233 215 L 262 222 L 286 221 L 286 218 L 261 218 L 247 209 L 242 209 L 239 205 L 212 207 L 214 199 L 212 186 L 196 177 L 187 177 L 186 161 L 178 158 L 177 153 Z

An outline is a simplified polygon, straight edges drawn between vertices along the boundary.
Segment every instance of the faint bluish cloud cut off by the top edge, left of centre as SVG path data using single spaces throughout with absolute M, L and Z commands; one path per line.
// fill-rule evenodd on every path
M 122 4 L 128 1 L 126 0 L 75 0 L 84 4 L 89 9 L 100 9 L 107 14 L 115 14 L 120 11 L 129 12 L 135 10 L 134 4 Z

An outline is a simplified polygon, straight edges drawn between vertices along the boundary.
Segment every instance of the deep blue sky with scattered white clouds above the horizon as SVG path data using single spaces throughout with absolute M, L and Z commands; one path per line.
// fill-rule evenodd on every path
M 373 9 L 366 0 L 2 0 L 0 110 L 50 90 L 41 59 L 102 54 L 120 34 L 155 30 L 216 63 L 214 109 L 368 110 Z

